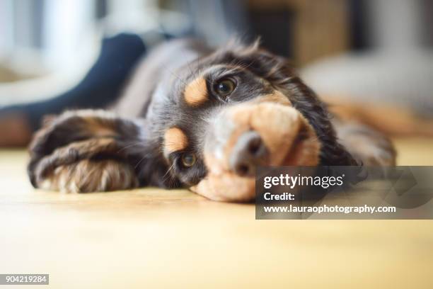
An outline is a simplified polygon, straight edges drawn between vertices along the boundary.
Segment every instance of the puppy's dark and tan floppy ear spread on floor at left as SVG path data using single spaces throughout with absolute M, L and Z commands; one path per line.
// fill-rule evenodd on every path
M 67 111 L 45 121 L 30 144 L 28 175 L 36 188 L 74 193 L 138 185 L 132 159 L 143 140 L 138 120 L 107 111 Z

